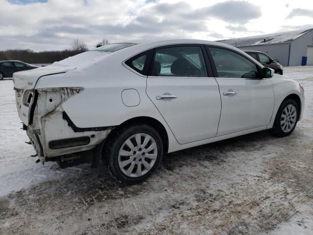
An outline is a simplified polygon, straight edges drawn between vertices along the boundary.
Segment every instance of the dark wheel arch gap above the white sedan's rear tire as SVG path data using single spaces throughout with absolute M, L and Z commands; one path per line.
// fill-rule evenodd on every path
M 159 122 L 158 120 L 156 120 L 155 118 L 150 118 L 150 117 L 136 117 L 136 118 L 131 118 L 127 121 L 124 121 L 122 124 L 120 124 L 119 126 L 116 126 L 112 132 L 115 132 L 116 130 L 119 130 L 120 128 L 123 128 L 125 126 L 128 126 L 130 124 L 134 124 L 134 123 L 138 123 L 138 124 L 148 124 L 151 127 L 155 128 L 156 131 L 158 132 L 158 134 L 160 135 L 162 142 L 163 142 L 163 153 L 167 153 L 168 151 L 168 135 L 167 132 L 164 128 L 164 126 L 162 125 L 161 122 Z M 110 135 L 112 135 L 112 132 L 110 133 Z M 110 135 L 108 138 L 110 138 Z

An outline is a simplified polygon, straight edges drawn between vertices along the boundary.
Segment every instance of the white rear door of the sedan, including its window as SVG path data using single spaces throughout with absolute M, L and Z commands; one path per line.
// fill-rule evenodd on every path
M 217 134 L 221 97 L 203 51 L 200 45 L 156 48 L 147 77 L 147 94 L 180 144 Z

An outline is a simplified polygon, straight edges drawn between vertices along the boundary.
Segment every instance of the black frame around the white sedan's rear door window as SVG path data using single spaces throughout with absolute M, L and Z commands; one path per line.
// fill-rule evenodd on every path
M 214 73 L 212 71 L 212 67 L 211 67 L 211 63 L 210 63 L 210 60 L 209 60 L 209 57 L 207 55 L 207 52 L 205 50 L 205 47 L 203 44 L 193 44 L 193 43 L 190 43 L 190 44 L 172 44 L 172 45 L 166 45 L 166 46 L 160 46 L 160 47 L 155 47 L 153 48 L 154 52 L 153 52 L 153 56 L 152 56 L 152 60 L 151 60 L 151 63 L 150 63 L 150 69 L 149 69 L 149 73 L 148 73 L 148 76 L 149 77 L 163 77 L 163 76 L 152 76 L 151 73 L 152 73 L 152 67 L 153 67 L 153 64 L 155 62 L 155 57 L 156 57 L 156 50 L 159 50 L 159 49 L 163 49 L 163 48 L 169 48 L 169 47 L 200 47 L 201 49 L 201 53 L 202 53 L 202 56 L 203 56 L 203 62 L 204 62 L 204 66 L 205 66 L 205 69 L 206 69 L 206 76 L 205 77 L 181 77 L 181 76 L 166 76 L 168 78 L 171 78 L 171 77 L 179 77 L 179 78 L 214 78 Z

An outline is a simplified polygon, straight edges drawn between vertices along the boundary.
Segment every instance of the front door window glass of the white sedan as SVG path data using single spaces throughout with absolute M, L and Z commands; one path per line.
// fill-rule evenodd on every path
M 228 49 L 208 47 L 219 77 L 257 78 L 258 70 L 246 57 Z

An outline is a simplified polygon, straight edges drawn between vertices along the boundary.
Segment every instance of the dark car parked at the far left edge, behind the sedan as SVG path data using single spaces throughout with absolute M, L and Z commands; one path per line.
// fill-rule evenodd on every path
M 38 67 L 18 60 L 2 60 L 0 61 L 0 80 L 4 77 L 12 77 L 14 72 L 33 70 L 36 68 Z

